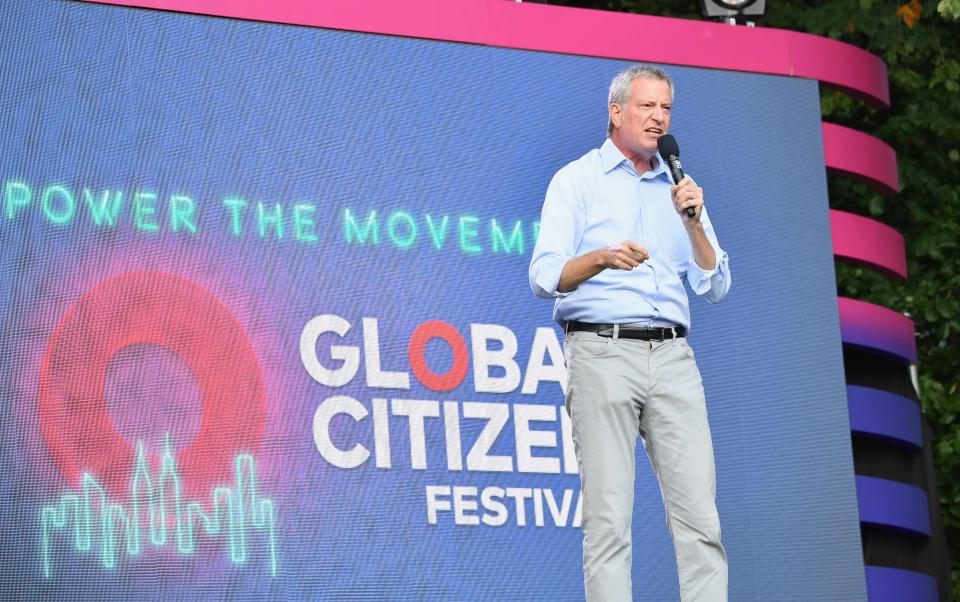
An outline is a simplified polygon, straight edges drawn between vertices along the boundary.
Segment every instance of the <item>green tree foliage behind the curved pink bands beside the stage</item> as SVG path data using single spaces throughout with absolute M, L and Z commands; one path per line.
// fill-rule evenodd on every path
M 560 2 L 563 3 L 563 2 Z M 700 18 L 691 0 L 600 0 L 570 5 Z M 906 238 L 909 277 L 883 278 L 839 264 L 841 295 L 909 314 L 916 323 L 920 396 L 935 433 L 941 510 L 953 549 L 960 544 L 960 0 L 768 0 L 764 27 L 827 36 L 883 58 L 891 107 L 868 106 L 824 87 L 824 119 L 868 132 L 897 151 L 902 189 L 885 197 L 829 178 L 835 209 L 867 215 Z M 802 249 L 798 249 L 802 255 Z M 960 558 L 953 591 L 960 600 Z

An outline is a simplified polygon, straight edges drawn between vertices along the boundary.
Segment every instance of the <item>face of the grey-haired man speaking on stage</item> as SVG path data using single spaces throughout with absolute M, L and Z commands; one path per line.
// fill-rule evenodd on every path
M 657 152 L 657 139 L 670 127 L 670 85 L 659 79 L 638 77 L 622 104 L 610 105 L 614 142 L 624 154 L 649 158 Z

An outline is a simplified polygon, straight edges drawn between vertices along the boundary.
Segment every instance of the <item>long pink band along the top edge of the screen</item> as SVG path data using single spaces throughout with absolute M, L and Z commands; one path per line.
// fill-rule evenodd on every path
M 770 28 L 510 0 L 81 0 L 367 33 L 816 79 L 889 105 L 886 64 L 855 46 Z

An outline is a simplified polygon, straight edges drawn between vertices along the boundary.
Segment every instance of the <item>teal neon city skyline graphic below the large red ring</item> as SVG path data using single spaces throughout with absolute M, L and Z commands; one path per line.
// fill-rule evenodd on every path
M 54 575 L 55 535 L 72 526 L 74 548 L 86 553 L 99 542 L 100 562 L 105 569 L 117 568 L 124 547 L 129 556 L 167 544 L 175 544 L 180 554 L 193 554 L 201 535 L 223 538 L 230 560 L 245 564 L 251 555 L 250 536 L 260 532 L 266 536 L 270 575 L 276 577 L 276 505 L 257 491 L 252 455 L 235 457 L 234 475 L 233 487 L 215 488 L 204 508 L 201 502 L 186 501 L 181 495 L 181 478 L 169 434 L 156 478 L 151 475 L 143 442 L 138 442 L 129 507 L 110 500 L 96 476 L 84 473 L 79 492 L 64 493 L 58 502 L 40 510 L 43 576 L 50 579 Z

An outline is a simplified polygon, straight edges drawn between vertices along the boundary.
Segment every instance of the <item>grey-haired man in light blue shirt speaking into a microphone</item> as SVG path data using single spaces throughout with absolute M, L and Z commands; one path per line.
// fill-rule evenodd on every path
M 713 444 L 681 279 L 717 303 L 730 269 L 703 190 L 688 177 L 673 183 L 657 153 L 672 102 L 673 82 L 656 67 L 613 79 L 608 138 L 550 182 L 530 263 L 531 288 L 556 298 L 566 333 L 590 601 L 632 600 L 637 434 L 660 482 L 681 599 L 727 599 Z

